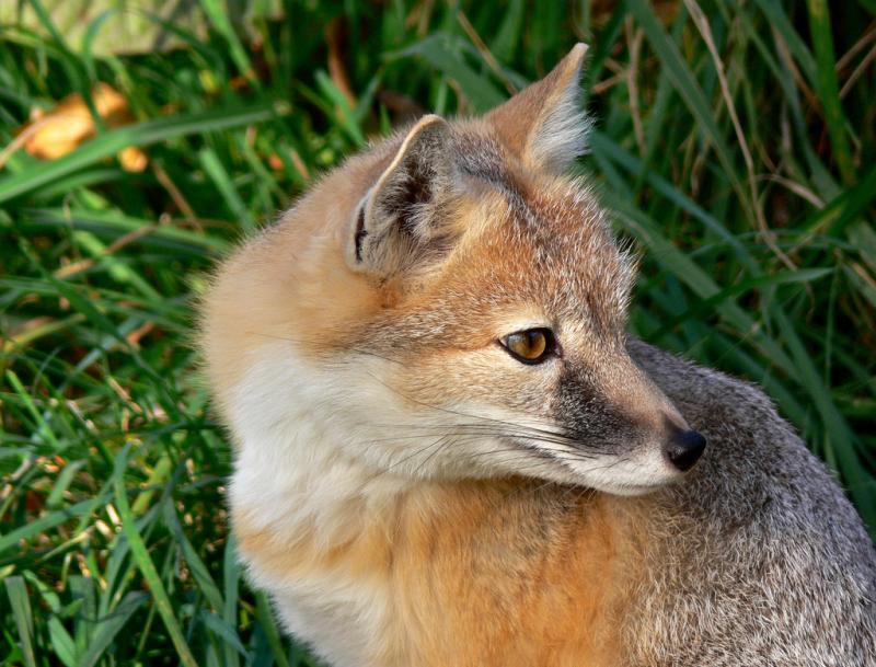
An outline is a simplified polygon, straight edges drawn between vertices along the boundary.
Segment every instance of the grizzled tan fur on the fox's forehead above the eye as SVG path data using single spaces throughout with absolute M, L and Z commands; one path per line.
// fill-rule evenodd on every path
M 469 320 L 537 308 L 544 324 L 590 317 L 595 325 L 622 326 L 635 266 L 592 195 L 553 176 L 521 176 L 517 185 L 483 196 L 471 229 L 419 300 L 448 292 Z

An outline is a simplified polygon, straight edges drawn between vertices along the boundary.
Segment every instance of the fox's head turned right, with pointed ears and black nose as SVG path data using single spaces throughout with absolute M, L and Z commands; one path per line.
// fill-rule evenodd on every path
M 224 264 L 204 349 L 244 452 L 616 494 L 696 461 L 626 352 L 635 263 L 567 175 L 585 51 L 483 118 L 425 116 L 349 160 Z

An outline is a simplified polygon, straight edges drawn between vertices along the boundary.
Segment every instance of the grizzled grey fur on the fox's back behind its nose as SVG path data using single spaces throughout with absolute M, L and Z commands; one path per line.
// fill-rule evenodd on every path
M 630 352 L 708 438 L 644 536 L 633 664 L 876 665 L 876 552 L 825 467 L 758 388 L 639 342 Z

